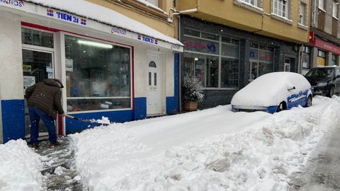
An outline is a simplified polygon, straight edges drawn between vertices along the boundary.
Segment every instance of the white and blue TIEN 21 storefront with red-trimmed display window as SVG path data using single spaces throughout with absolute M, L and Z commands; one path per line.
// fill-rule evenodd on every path
M 86 5 L 101 8 L 84 1 Z M 47 78 L 62 80 L 63 108 L 75 117 L 126 122 L 178 110 L 176 58 L 183 52 L 181 42 L 123 15 L 115 14 L 115 19 L 140 30 L 85 18 L 67 6 L 58 8 L 0 3 L 0 50 L 6 52 L 0 56 L 3 142 L 29 137 L 24 91 Z M 89 125 L 57 120 L 59 134 Z M 40 135 L 45 134 L 41 128 Z

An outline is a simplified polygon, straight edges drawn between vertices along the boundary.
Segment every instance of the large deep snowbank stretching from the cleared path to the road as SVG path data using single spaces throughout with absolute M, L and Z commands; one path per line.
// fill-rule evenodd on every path
M 81 180 L 89 190 L 287 190 L 288 176 L 338 124 L 340 98 L 274 115 L 230 109 L 72 134 Z

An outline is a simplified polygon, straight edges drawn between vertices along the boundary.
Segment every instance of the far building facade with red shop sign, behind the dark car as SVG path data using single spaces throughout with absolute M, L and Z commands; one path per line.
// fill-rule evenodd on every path
M 339 65 L 339 1 L 312 1 L 310 40 L 304 47 L 302 74 L 315 66 Z

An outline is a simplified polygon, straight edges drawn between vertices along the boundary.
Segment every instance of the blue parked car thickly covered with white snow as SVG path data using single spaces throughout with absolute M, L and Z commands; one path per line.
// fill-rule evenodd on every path
M 312 105 L 310 83 L 301 74 L 273 72 L 259 76 L 232 97 L 232 110 L 279 112 Z

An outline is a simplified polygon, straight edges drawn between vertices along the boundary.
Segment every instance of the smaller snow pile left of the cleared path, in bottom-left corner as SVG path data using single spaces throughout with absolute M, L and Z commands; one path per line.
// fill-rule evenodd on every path
M 26 141 L 0 144 L 0 190 L 42 190 L 40 156 Z

